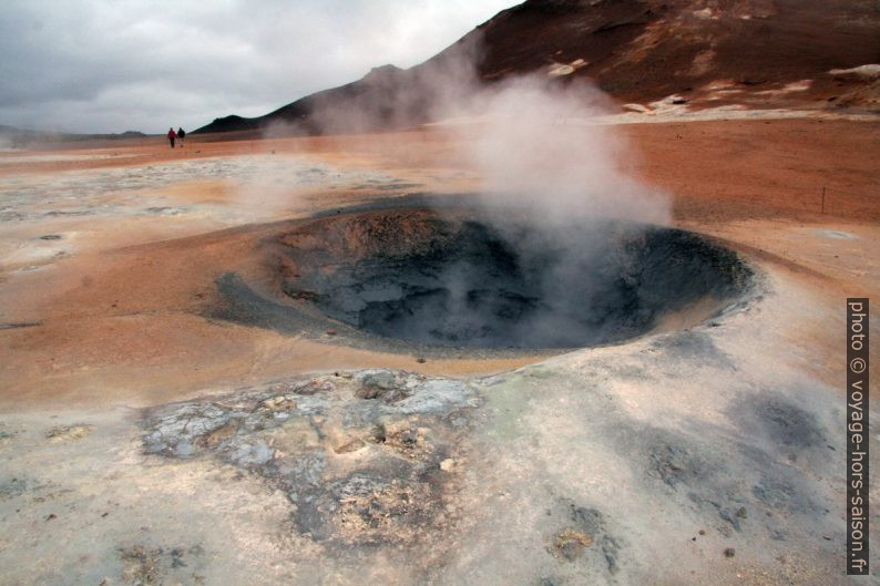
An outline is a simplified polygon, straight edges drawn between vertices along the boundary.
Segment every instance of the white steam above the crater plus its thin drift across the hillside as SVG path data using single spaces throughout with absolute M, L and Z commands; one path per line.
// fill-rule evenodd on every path
M 453 158 L 477 171 L 487 205 L 519 208 L 535 222 L 669 222 L 669 197 L 628 171 L 633 153 L 616 127 L 594 122 L 618 111 L 606 94 L 546 71 L 480 80 L 481 53 L 473 35 L 412 69 L 378 68 L 356 86 L 309 97 L 307 114 L 288 110 L 287 122 L 265 133 L 352 134 L 465 120 L 453 126 Z

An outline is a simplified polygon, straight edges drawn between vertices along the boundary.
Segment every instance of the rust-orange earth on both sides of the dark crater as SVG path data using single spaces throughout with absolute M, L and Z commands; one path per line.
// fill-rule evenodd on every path
M 880 123 L 718 120 L 621 130 L 634 147 L 627 162 L 634 172 L 673 194 L 675 225 L 724 238 L 808 280 L 838 300 L 841 312 L 845 297 L 878 291 Z M 533 361 L 449 357 L 422 363 L 417 356 L 336 345 L 332 335 L 307 340 L 199 315 L 216 300 L 215 279 L 224 271 L 246 270 L 254 243 L 276 229 L 274 222 L 377 196 L 478 188 L 472 169 L 456 155 L 458 136 L 437 128 L 265 141 L 196 138 L 175 150 L 145 140 L 0 156 L 2 182 L 27 175 L 39 184 L 83 169 L 256 155 L 346 169 L 360 183 L 242 195 L 241 186 L 227 178 L 195 177 L 136 192 L 139 206 L 187 209 L 176 215 L 59 215 L 6 224 L 0 233 L 0 404 L 144 405 L 291 372 L 381 366 L 450 376 Z M 367 172 L 383 173 L 403 186 L 360 181 L 357 174 Z M 109 203 L 112 192 L 105 196 Z M 39 239 L 47 234 L 62 238 Z M 25 254 L 55 244 L 71 249 L 61 256 Z M 817 327 L 794 325 L 791 343 L 808 340 L 823 348 L 829 364 L 840 362 L 842 330 Z

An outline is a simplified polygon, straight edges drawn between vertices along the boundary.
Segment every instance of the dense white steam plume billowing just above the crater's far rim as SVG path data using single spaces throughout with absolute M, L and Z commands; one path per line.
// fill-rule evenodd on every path
M 631 151 L 615 127 L 591 123 L 613 107 L 594 86 L 516 78 L 481 91 L 472 107 L 482 122 L 463 144 L 485 203 L 552 224 L 669 222 L 669 197 L 627 174 Z

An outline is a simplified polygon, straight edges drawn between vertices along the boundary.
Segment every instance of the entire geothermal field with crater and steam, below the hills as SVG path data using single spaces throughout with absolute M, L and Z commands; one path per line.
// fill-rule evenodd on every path
M 530 14 L 487 38 L 567 18 Z M 395 81 L 448 90 L 406 124 L 0 151 L 0 584 L 878 584 L 846 418 L 880 66 L 838 107 L 554 59 Z

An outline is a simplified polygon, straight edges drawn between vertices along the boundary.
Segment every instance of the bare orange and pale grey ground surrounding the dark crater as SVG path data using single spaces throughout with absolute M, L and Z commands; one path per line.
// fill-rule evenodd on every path
M 621 128 L 674 224 L 759 284 L 712 325 L 554 357 L 426 360 L 205 317 L 279 222 L 477 189 L 449 130 L 0 154 L 0 582 L 846 583 L 845 298 L 880 291 L 880 122 Z M 151 451 L 184 400 L 232 435 Z M 258 415 L 275 423 L 225 426 Z M 374 424 L 415 435 L 371 443 Z M 304 498 L 329 504 L 306 518 Z

